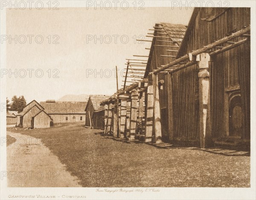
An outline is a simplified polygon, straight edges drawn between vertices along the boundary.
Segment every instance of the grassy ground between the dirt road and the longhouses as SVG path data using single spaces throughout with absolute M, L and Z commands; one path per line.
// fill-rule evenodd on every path
M 84 187 L 250 187 L 250 153 L 125 143 L 81 124 L 8 128 L 43 143 Z

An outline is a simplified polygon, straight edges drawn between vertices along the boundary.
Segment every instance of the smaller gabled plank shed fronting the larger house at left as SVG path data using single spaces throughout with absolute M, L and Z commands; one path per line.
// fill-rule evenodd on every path
M 51 117 L 44 110 L 38 111 L 31 120 L 32 129 L 49 128 Z

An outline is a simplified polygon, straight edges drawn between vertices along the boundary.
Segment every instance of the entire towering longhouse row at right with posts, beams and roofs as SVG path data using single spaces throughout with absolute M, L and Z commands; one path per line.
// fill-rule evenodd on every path
M 137 56 L 148 57 L 146 64 L 127 59 L 123 90 L 114 103 L 102 102 L 105 121 L 113 119 L 105 130 L 138 139 L 138 105 L 144 102 L 145 142 L 186 138 L 205 148 L 223 137 L 249 140 L 250 8 L 195 8 L 187 29 L 159 23 L 150 30 L 149 55 Z M 143 79 L 127 81 L 133 66 L 145 67 Z

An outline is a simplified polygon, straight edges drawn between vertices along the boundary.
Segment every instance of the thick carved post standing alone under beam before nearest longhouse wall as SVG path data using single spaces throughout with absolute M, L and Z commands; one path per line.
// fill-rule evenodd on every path
M 205 148 L 206 137 L 209 134 L 207 130 L 207 123 L 209 123 L 209 113 L 207 114 L 207 108 L 209 104 L 209 61 L 210 56 L 208 53 L 200 54 L 200 61 L 198 62 L 198 78 L 199 78 L 199 135 L 200 135 L 200 147 Z M 208 133 L 207 133 L 208 132 Z

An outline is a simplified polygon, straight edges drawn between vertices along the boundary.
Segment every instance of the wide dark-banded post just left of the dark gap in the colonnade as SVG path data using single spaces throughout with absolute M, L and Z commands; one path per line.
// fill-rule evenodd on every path
M 135 140 L 136 137 L 138 95 L 138 91 L 132 91 L 131 93 L 131 121 L 129 141 Z

